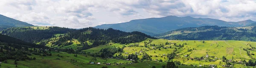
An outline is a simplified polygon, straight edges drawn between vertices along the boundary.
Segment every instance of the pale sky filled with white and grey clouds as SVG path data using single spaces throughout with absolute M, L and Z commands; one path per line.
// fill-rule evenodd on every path
M 37 26 L 69 28 L 164 16 L 256 21 L 256 0 L 0 0 L 0 14 Z

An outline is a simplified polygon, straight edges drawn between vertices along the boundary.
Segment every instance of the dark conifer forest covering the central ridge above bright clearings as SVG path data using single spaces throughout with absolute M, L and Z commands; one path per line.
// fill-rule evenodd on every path
M 144 41 L 146 38 L 153 38 L 149 35 L 145 35 L 141 32 L 123 32 L 120 30 L 114 30 L 112 28 L 109 28 L 107 30 L 104 29 L 96 29 L 92 27 L 83 28 L 80 30 L 75 30 L 72 33 L 67 33 L 61 37 L 58 38 L 57 41 L 52 42 L 52 44 L 58 45 L 58 46 L 67 46 L 72 44 L 67 43 L 67 41 L 72 41 L 72 39 L 77 39 L 79 42 L 81 42 L 83 47 L 80 50 L 84 49 L 90 49 L 95 46 L 99 45 L 105 45 L 110 42 L 113 43 L 120 43 L 120 44 L 129 44 L 129 43 L 135 43 Z M 51 40 L 45 40 L 41 41 L 42 45 L 46 45 Z M 86 41 L 90 41 L 93 43 L 92 45 L 85 44 Z M 66 43 L 63 43 L 66 42 Z M 85 42 L 85 43 L 84 43 Z

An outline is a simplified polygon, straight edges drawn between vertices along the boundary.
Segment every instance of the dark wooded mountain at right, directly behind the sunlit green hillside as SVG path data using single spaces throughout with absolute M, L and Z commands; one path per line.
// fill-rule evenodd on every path
M 241 40 L 256 41 L 256 27 L 187 27 L 155 35 L 170 40 Z

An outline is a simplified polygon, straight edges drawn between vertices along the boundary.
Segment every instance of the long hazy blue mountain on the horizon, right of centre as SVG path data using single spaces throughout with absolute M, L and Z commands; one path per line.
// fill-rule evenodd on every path
M 156 35 L 170 30 L 176 30 L 184 27 L 200 27 L 206 25 L 218 25 L 226 27 L 242 27 L 253 23 L 251 20 L 241 22 L 226 22 L 210 18 L 193 18 L 190 16 L 177 17 L 166 16 L 162 18 L 136 19 L 130 22 L 118 24 L 102 24 L 95 28 L 108 29 L 113 28 L 125 32 L 140 31 L 147 35 Z

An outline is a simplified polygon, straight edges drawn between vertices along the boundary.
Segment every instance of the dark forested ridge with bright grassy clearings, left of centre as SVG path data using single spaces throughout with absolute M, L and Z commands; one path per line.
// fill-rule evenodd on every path
M 129 44 L 154 38 L 137 31 L 127 33 L 112 28 L 105 30 L 92 27 L 79 30 L 61 27 L 13 27 L 1 33 L 39 45 L 80 50 L 108 43 Z

